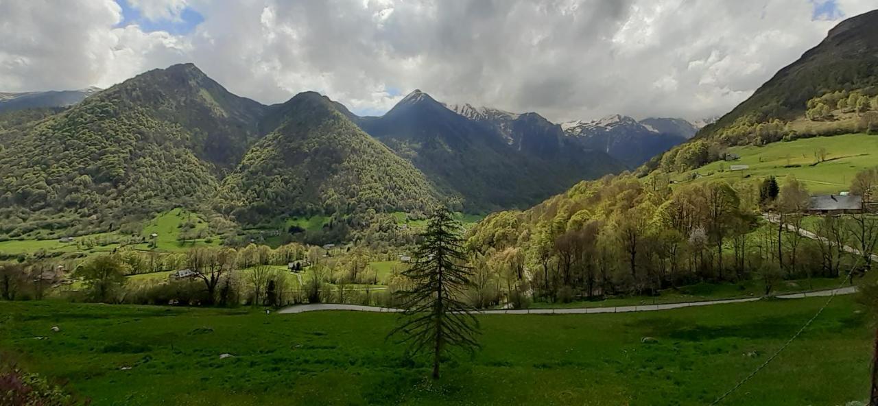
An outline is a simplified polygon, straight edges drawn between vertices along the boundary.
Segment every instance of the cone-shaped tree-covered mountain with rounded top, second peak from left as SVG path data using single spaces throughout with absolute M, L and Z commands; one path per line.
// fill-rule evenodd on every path
M 275 105 L 277 125 L 223 184 L 223 205 L 240 221 L 295 214 L 423 213 L 438 193 L 427 178 L 356 127 L 318 93 Z

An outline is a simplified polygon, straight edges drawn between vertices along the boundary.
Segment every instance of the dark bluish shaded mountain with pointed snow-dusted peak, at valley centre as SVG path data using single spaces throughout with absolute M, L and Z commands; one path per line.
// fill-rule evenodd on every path
M 356 122 L 468 211 L 526 207 L 583 178 L 623 169 L 536 113 L 446 106 L 421 91 L 384 116 Z

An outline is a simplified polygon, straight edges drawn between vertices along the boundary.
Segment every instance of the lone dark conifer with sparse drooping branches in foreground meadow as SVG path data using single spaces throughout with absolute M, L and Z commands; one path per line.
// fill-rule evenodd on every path
M 439 378 L 443 354 L 457 347 L 474 352 L 479 344 L 475 336 L 479 322 L 472 308 L 460 298 L 470 286 L 471 269 L 464 264 L 460 224 L 449 210 L 439 207 L 430 217 L 416 262 L 402 272 L 412 281 L 410 290 L 401 294 L 404 311 L 400 324 L 391 334 L 404 336 L 409 355 L 430 353 L 433 379 Z

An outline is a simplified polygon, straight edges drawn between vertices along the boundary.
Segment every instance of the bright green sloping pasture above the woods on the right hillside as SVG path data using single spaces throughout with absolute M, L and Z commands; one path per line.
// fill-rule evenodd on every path
M 826 149 L 827 161 L 816 162 L 814 153 Z M 766 146 L 746 146 L 729 149 L 741 156 L 739 161 L 709 163 L 696 170 L 672 174 L 674 180 L 684 182 L 698 173 L 696 182 L 727 179 L 738 181 L 745 176 L 762 178 L 774 175 L 784 178 L 794 175 L 808 185 L 812 193 L 838 193 L 849 189 L 851 180 L 860 170 L 878 165 L 878 136 L 845 134 L 816 137 L 789 142 L 774 142 Z M 750 165 L 750 169 L 730 171 L 730 165 Z M 724 170 L 723 170 L 724 169 Z

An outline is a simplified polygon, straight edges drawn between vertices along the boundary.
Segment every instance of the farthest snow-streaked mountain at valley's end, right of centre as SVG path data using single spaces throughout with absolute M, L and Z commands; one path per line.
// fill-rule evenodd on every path
M 694 126 L 680 119 L 647 119 L 641 122 L 614 114 L 594 121 L 561 125 L 565 134 L 590 149 L 606 151 L 631 168 L 648 161 L 694 134 Z

